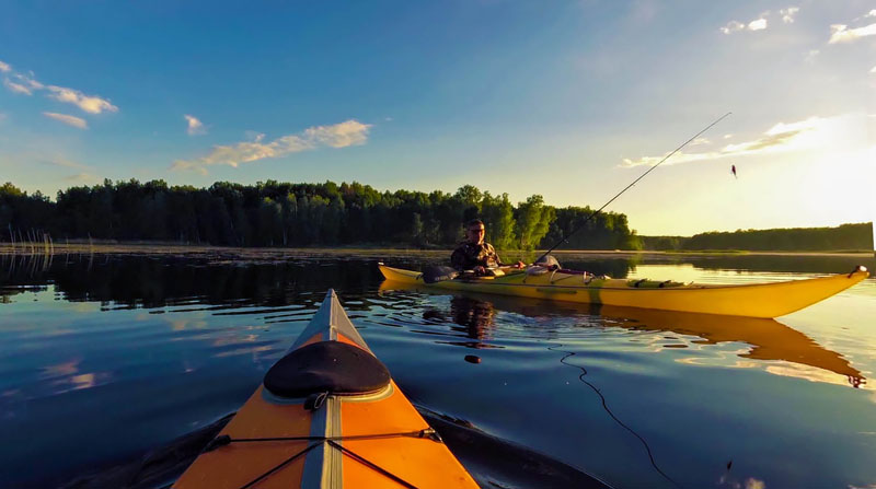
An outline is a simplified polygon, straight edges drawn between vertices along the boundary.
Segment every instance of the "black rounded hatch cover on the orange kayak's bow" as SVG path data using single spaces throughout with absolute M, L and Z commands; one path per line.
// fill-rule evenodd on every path
M 320 341 L 290 351 L 265 374 L 265 388 L 280 397 L 313 394 L 357 396 L 385 388 L 390 372 L 361 348 L 341 341 Z

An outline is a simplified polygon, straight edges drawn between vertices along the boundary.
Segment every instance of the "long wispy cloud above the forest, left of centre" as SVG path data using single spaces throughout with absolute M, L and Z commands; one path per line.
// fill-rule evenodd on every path
M 262 142 L 264 135 L 257 135 L 252 142 L 233 145 L 217 145 L 206 155 L 196 160 L 177 160 L 171 170 L 191 170 L 207 174 L 207 166 L 229 165 L 237 167 L 268 158 L 280 158 L 291 153 L 313 150 L 319 147 L 346 148 L 364 144 L 368 140 L 369 124 L 350 119 L 332 126 L 314 126 L 297 135 L 283 136 L 270 142 Z

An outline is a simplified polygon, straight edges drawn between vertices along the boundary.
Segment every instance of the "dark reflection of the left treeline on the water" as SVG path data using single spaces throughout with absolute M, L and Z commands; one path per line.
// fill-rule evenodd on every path
M 54 283 L 62 299 L 100 301 L 104 310 L 205 303 L 281 306 L 315 303 L 328 288 L 360 294 L 378 277 L 367 261 L 332 257 L 246 261 L 212 256 L 0 255 L 0 301 Z

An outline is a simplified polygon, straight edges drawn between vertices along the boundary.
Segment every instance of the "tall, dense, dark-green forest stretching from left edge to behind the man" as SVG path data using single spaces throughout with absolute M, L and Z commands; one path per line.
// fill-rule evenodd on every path
M 378 191 L 358 183 L 256 185 L 217 182 L 209 188 L 104 181 L 71 187 L 51 201 L 11 183 L 0 187 L 0 241 L 162 241 L 228 246 L 350 244 L 452 246 L 462 223 L 480 217 L 500 249 L 533 249 L 568 235 L 589 208 L 556 209 L 533 195 L 517 206 L 508 195 L 466 185 L 440 190 Z M 638 248 L 626 216 L 606 213 L 567 247 Z

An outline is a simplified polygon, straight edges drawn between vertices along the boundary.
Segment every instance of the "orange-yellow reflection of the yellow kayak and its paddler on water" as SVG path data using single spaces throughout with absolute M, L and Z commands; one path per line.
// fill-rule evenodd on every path
M 382 292 L 415 291 L 439 294 L 417 286 L 384 281 Z M 446 293 L 441 293 L 446 295 Z M 700 345 L 745 342 L 748 351 L 738 356 L 760 361 L 784 361 L 833 372 L 846 377 L 857 388 L 866 383 L 862 372 L 852 366 L 842 354 L 826 349 L 805 334 L 775 319 L 722 316 L 713 314 L 679 313 L 637 307 L 599 306 L 592 304 L 556 303 L 527 298 L 507 298 L 472 292 L 454 292 L 450 301 L 450 318 L 462 333 L 473 340 L 475 348 L 489 348 L 483 341 L 493 337 L 497 311 L 507 311 L 527 317 L 544 318 L 552 315 L 599 315 L 606 326 L 616 326 L 642 331 L 665 331 L 696 336 Z M 431 315 L 440 315 L 431 311 Z M 802 375 L 805 376 L 805 375 Z M 808 379 L 808 377 L 807 377 Z

